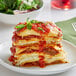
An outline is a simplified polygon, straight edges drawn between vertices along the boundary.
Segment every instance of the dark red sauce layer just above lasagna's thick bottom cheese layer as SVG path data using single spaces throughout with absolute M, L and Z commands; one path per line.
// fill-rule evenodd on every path
M 27 54 L 27 53 L 33 53 L 33 52 L 39 52 L 39 53 L 42 52 L 44 54 L 54 56 L 54 55 L 59 53 L 59 50 L 56 50 L 55 48 L 53 48 L 51 46 L 50 47 L 44 47 L 44 48 L 42 48 L 42 50 L 41 49 L 40 50 L 34 50 L 34 49 L 27 48 L 26 50 L 20 52 L 19 54 L 24 54 L 24 53 Z M 11 53 L 13 55 L 16 53 L 15 47 L 11 47 Z

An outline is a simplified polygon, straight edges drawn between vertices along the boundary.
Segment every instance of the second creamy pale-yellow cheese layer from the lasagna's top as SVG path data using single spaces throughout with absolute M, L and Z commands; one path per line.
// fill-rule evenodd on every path
M 51 38 L 51 37 L 44 37 L 44 41 L 46 41 L 46 43 L 51 43 L 51 42 L 59 42 L 61 40 L 61 38 Z M 41 41 L 38 38 L 31 38 L 30 40 L 18 40 L 16 42 L 13 42 L 13 45 L 27 45 L 27 44 L 34 44 L 34 43 L 39 43 L 39 41 Z M 43 40 L 42 40 L 43 41 Z

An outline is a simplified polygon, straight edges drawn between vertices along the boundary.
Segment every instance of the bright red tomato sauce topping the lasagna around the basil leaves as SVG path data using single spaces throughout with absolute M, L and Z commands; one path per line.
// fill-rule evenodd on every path
M 27 23 L 25 22 L 25 23 L 20 23 L 20 24 L 26 25 Z M 18 24 L 18 25 L 20 25 L 20 24 Z M 42 28 L 44 31 L 43 30 L 39 30 L 38 27 Z M 24 28 L 20 29 L 19 31 L 18 31 L 18 29 L 16 29 L 16 33 L 23 32 L 26 29 L 27 29 L 26 26 Z M 36 32 L 38 32 L 40 34 L 47 34 L 47 33 L 50 32 L 50 29 L 47 27 L 47 25 L 45 25 L 45 23 L 42 23 L 42 22 L 41 23 L 32 23 L 32 28 L 31 29 L 33 29 L 34 31 L 36 31 Z

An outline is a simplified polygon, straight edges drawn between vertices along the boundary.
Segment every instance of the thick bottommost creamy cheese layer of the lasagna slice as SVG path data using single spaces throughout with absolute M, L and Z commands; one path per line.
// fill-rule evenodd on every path
M 18 60 L 16 60 L 16 62 L 17 62 L 16 65 L 23 65 L 23 64 L 29 63 L 29 62 L 39 61 L 40 55 L 44 56 L 45 63 L 52 63 L 52 62 L 57 61 L 57 60 L 61 60 L 63 62 L 66 62 L 65 53 L 60 53 L 60 54 L 57 54 L 56 56 L 50 56 L 48 54 L 34 52 L 31 54 L 23 54 L 23 55 L 19 56 Z

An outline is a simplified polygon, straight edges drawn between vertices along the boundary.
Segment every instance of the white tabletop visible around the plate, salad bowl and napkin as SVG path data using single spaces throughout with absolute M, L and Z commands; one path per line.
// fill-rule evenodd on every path
M 42 12 L 39 13 L 36 19 L 57 22 L 76 17 L 76 9 L 71 9 L 67 11 L 51 9 L 49 6 L 50 4 L 48 2 L 46 2 L 44 9 L 42 10 Z M 14 26 L 9 26 L 7 24 L 0 22 L 0 43 L 3 43 L 11 39 L 10 35 L 13 32 L 12 30 L 13 27 Z M 13 72 L 0 65 L 0 76 L 29 76 L 29 75 Z M 76 67 L 70 69 L 67 72 L 52 76 L 76 76 Z

